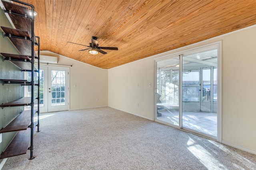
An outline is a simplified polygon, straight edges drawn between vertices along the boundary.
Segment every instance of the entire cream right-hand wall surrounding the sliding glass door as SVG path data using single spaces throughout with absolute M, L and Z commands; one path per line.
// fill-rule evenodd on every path
M 222 142 L 256 153 L 256 25 L 168 53 L 221 40 Z M 154 90 L 148 83 L 154 82 L 154 58 L 164 54 L 109 69 L 108 106 L 153 119 Z

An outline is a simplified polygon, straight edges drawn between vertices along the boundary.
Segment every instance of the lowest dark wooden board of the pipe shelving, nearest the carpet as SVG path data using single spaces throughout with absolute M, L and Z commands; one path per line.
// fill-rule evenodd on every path
M 8 147 L 2 152 L 0 159 L 26 154 L 30 144 L 30 128 L 18 131 Z

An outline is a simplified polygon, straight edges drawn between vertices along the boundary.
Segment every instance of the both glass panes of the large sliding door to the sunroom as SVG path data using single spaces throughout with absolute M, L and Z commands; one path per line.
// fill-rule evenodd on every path
M 156 121 L 218 138 L 218 50 L 211 45 L 156 59 Z

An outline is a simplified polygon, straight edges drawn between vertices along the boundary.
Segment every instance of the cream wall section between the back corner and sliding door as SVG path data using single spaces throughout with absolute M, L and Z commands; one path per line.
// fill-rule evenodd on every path
M 153 75 L 154 61 L 150 58 L 109 69 L 108 106 L 153 120 Z

